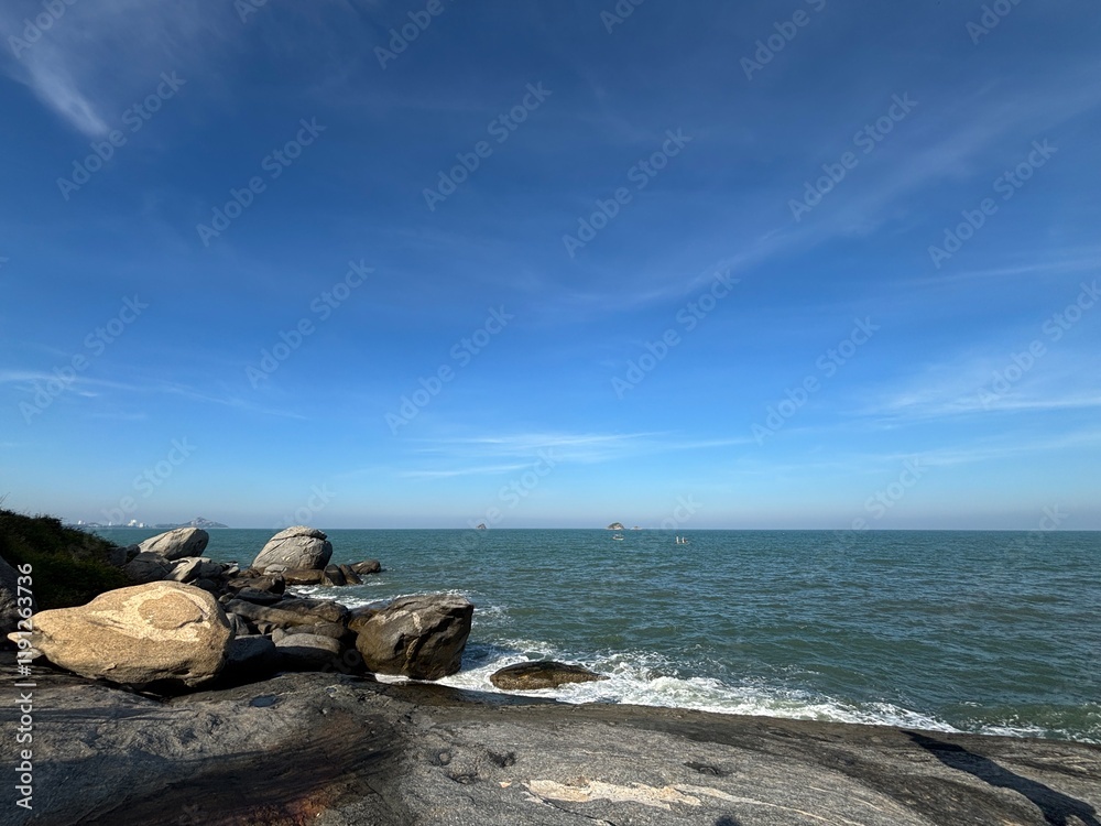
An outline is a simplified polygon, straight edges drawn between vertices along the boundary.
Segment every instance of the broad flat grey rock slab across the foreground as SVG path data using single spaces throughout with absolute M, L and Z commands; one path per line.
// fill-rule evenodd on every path
M 1101 809 L 1101 748 L 1083 743 L 338 674 L 160 702 L 35 672 L 28 823 L 1097 826 Z M 17 714 L 0 709 L 6 730 Z

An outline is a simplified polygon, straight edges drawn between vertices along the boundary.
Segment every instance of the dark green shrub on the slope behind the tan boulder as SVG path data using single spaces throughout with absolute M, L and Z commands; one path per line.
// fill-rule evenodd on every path
M 105 590 L 131 583 L 110 563 L 118 546 L 54 517 L 26 517 L 0 509 L 0 556 L 18 567 L 30 563 L 39 610 L 85 605 Z

